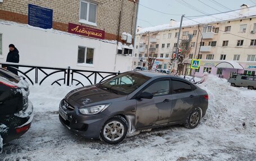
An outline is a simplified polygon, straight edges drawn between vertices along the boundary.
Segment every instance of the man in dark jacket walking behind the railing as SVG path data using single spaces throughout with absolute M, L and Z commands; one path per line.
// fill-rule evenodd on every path
M 13 44 L 9 45 L 9 50 L 10 52 L 7 55 L 6 62 L 19 63 L 20 61 L 19 50 L 17 50 L 17 48 L 15 48 L 15 45 Z M 7 70 L 18 75 L 18 71 L 13 67 L 19 68 L 18 66 L 12 66 L 12 67 L 7 66 Z

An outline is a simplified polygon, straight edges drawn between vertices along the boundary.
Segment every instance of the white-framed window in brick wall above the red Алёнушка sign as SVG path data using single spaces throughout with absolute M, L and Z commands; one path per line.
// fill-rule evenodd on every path
M 96 26 L 97 4 L 80 1 L 80 20 L 79 22 Z

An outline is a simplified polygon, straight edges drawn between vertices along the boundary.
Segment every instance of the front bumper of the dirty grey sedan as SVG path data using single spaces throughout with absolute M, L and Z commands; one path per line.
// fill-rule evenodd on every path
M 63 126 L 75 134 L 83 135 L 86 139 L 99 139 L 100 130 L 108 117 L 102 113 L 95 115 L 80 114 L 78 108 L 67 107 L 61 101 L 59 119 Z

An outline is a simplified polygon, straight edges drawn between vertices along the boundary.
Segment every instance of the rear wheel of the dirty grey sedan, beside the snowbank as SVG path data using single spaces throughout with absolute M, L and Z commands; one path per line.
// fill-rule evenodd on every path
M 190 115 L 186 119 L 185 127 L 195 128 L 196 126 L 198 126 L 200 119 L 201 119 L 201 112 L 199 109 L 195 109 L 193 112 L 190 113 Z

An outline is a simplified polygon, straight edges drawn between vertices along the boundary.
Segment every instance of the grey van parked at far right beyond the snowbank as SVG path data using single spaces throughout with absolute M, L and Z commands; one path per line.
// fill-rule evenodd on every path
M 228 82 L 230 82 L 231 86 L 256 89 L 256 76 L 253 75 L 234 74 L 228 79 Z

